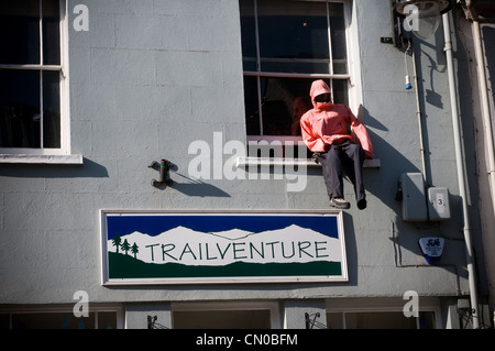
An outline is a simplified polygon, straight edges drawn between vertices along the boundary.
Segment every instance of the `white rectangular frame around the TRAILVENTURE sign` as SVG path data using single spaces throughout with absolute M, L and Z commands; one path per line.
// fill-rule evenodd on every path
M 290 220 L 290 218 L 294 219 L 302 219 L 308 220 L 314 218 L 315 220 L 322 220 L 323 218 L 326 220 L 329 220 L 329 218 L 336 219 L 336 234 L 337 238 L 328 237 L 331 239 L 338 240 L 338 245 L 336 249 L 336 252 L 339 252 L 341 255 L 340 260 L 340 274 L 309 274 L 309 275 L 270 275 L 270 276 L 263 276 L 263 275 L 256 275 L 256 276 L 178 276 L 178 277 L 112 277 L 110 272 L 110 254 L 113 254 L 113 252 L 110 252 L 112 248 L 109 248 L 109 242 L 111 239 L 109 239 L 109 218 L 132 218 L 132 217 L 150 217 L 150 218 L 164 218 L 167 217 L 174 218 L 175 220 L 180 217 L 205 217 L 205 218 L 212 218 L 212 217 L 261 217 L 263 219 L 273 218 L 273 220 L 276 220 L 276 217 L 279 217 L 279 219 L 284 220 Z M 118 219 L 119 220 L 119 219 Z M 183 227 L 183 226 L 179 226 Z M 185 227 L 185 226 L 184 226 Z M 234 230 L 234 228 L 232 228 Z M 280 230 L 283 230 L 280 228 Z M 268 231 L 266 231 L 268 232 Z M 211 231 L 205 232 L 211 233 Z M 141 233 L 144 234 L 144 233 Z M 256 234 L 256 233 L 253 233 Z M 260 233 L 261 235 L 262 233 Z M 317 232 L 317 234 L 323 235 L 321 232 Z M 123 237 L 125 237 L 124 234 Z M 326 235 L 326 234 L 324 234 Z M 207 237 L 205 237 L 207 238 Z M 309 242 L 309 241 L 305 241 Z M 316 244 L 318 244 L 315 241 Z M 163 246 L 163 245 L 162 245 Z M 116 246 L 117 248 L 117 246 Z M 148 248 L 148 246 L 146 246 Z M 295 246 L 293 243 L 293 252 L 295 253 Z M 297 244 L 296 244 L 297 248 Z M 158 248 L 160 249 L 160 248 Z M 300 249 L 300 248 L 299 248 Z M 100 250 L 101 250 L 101 285 L 102 286 L 120 286 L 120 285 L 184 285 L 184 284 L 191 284 L 191 285 L 205 285 L 205 284 L 239 284 L 239 283 L 345 283 L 349 282 L 349 273 L 348 273 L 348 262 L 346 262 L 346 253 L 345 253 L 345 238 L 344 238 L 344 228 L 343 228 L 343 215 L 342 211 L 339 210 L 100 210 Z M 164 249 L 162 248 L 162 251 Z M 272 252 L 274 250 L 274 246 L 272 245 Z M 326 256 L 324 248 L 317 246 L 317 254 L 318 250 L 321 252 L 321 256 Z M 118 251 L 118 249 L 117 249 Z M 187 252 L 193 254 L 191 252 Z M 224 253 L 224 252 L 223 252 Z M 306 253 L 306 252 L 305 252 Z M 160 251 L 158 251 L 160 254 Z M 168 254 L 168 253 L 167 253 Z M 183 252 L 184 254 L 184 252 Z M 301 253 L 299 252 L 299 256 Z M 310 255 L 309 253 L 307 255 Z M 163 254 L 165 260 L 165 254 Z M 172 255 L 169 255 L 172 257 Z M 176 255 L 177 256 L 177 255 Z M 195 256 L 196 259 L 196 256 Z M 328 261 L 330 262 L 330 261 Z M 294 262 L 293 262 L 294 263 Z M 296 262 L 297 263 L 297 262 Z M 331 262 L 330 262 L 331 263 Z M 337 262 L 336 262 L 337 263 Z M 220 265 L 222 266 L 222 265 Z

